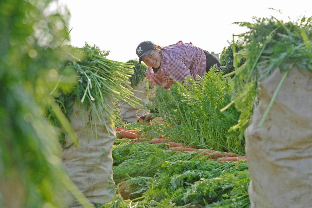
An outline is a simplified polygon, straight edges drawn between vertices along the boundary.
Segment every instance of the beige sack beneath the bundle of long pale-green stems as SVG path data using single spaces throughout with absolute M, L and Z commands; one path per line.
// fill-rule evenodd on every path
M 115 194 L 115 183 L 113 180 L 113 159 L 112 159 L 112 145 L 114 144 L 116 132 L 113 120 L 104 113 L 105 125 L 98 118 L 93 117 L 93 112 L 90 109 L 87 112 L 87 127 L 90 142 L 88 143 L 87 132 L 84 131 L 85 112 L 83 107 L 80 107 L 83 125 L 79 116 L 77 104 L 74 105 L 73 113 L 70 117 L 70 123 L 73 130 L 79 139 L 79 146 L 71 146 L 62 152 L 63 166 L 68 172 L 71 180 L 76 184 L 80 191 L 87 197 L 87 199 L 95 204 L 103 204 L 113 198 Z M 91 114 L 91 121 L 89 120 Z M 92 140 L 92 131 L 95 137 L 94 120 L 96 119 L 96 129 L 98 139 Z M 66 138 L 69 140 L 69 138 Z M 69 141 L 68 143 L 71 143 Z M 70 194 L 69 194 L 70 195 Z M 68 207 L 82 207 L 71 195 L 66 198 Z

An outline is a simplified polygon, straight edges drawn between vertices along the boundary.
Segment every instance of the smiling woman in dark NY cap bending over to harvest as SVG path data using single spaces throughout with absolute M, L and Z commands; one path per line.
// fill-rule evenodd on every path
M 137 47 L 136 54 L 139 64 L 143 61 L 148 66 L 146 78 L 164 89 L 169 89 L 175 80 L 184 82 L 188 75 L 196 80 L 197 75 L 203 76 L 213 65 L 221 66 L 212 54 L 182 41 L 164 47 L 143 41 Z M 152 120 L 153 113 L 151 111 L 141 118 L 148 122 Z

